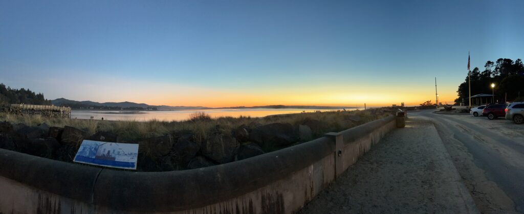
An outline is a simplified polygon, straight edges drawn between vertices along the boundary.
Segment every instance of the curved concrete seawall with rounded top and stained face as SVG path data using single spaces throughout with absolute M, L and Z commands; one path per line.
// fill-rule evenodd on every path
M 242 161 L 157 173 L 0 149 L 0 212 L 292 213 L 394 128 L 391 115 Z

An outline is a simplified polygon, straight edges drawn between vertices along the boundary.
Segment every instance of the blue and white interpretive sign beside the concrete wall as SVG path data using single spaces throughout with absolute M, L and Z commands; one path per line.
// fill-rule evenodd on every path
M 122 169 L 136 169 L 138 144 L 84 140 L 74 162 Z

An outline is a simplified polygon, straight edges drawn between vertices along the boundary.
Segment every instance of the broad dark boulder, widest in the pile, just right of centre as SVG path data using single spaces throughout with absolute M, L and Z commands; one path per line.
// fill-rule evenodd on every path
M 289 123 L 271 123 L 256 127 L 249 133 L 249 140 L 262 146 L 264 150 L 287 146 L 298 142 L 298 136 Z

